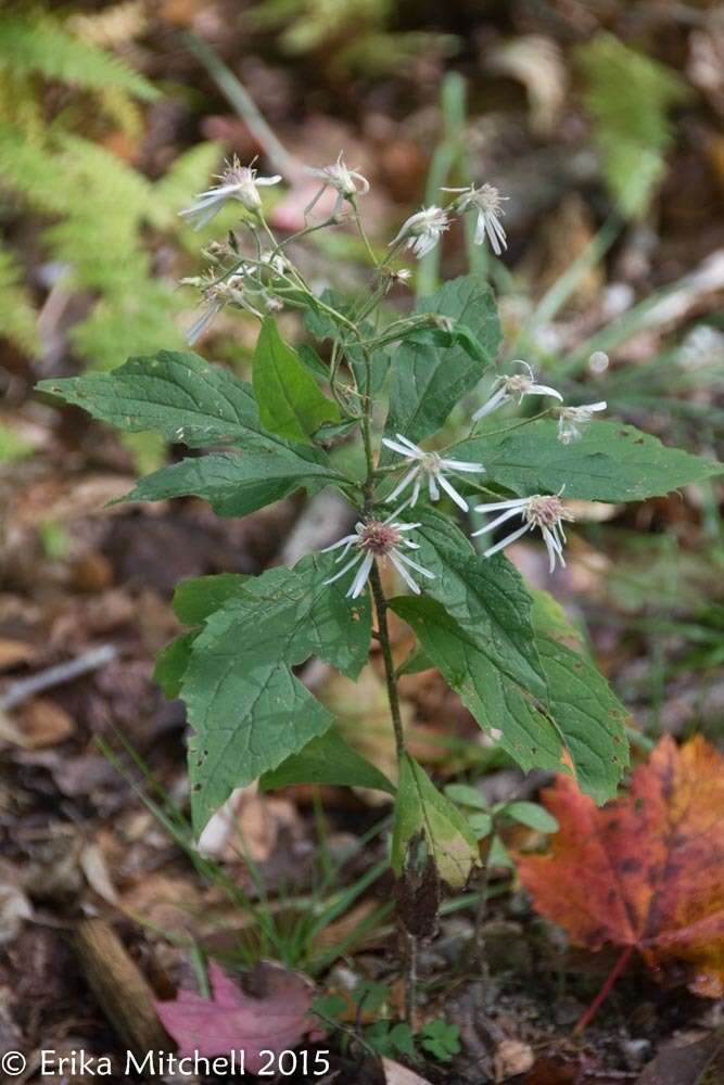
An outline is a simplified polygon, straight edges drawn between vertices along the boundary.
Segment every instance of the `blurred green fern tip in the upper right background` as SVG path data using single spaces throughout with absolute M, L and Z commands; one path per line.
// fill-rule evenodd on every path
M 604 178 L 619 212 L 637 218 L 648 209 L 665 173 L 665 155 L 673 144 L 669 111 L 690 91 L 670 68 L 610 34 L 580 46 L 576 60 Z

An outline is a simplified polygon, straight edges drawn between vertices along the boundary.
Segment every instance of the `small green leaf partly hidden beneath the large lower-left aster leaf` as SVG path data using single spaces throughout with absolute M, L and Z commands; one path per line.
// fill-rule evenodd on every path
M 371 788 L 394 795 L 394 784 L 371 762 L 344 741 L 333 727 L 304 749 L 288 757 L 279 768 L 265 773 L 259 780 L 264 791 L 288 788 L 293 783 L 329 783 L 348 788 Z

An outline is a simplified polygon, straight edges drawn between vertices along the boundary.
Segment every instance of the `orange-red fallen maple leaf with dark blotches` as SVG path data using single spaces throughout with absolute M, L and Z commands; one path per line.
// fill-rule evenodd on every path
M 636 948 L 659 979 L 724 994 L 724 756 L 662 739 L 630 793 L 599 809 L 568 777 L 543 792 L 560 825 L 517 856 L 537 911 L 577 945 Z

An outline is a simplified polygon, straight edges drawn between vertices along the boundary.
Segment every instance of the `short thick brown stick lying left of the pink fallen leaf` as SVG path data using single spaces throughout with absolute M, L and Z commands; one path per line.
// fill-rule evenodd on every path
M 103 919 L 84 919 L 74 941 L 88 985 L 126 1047 L 139 1061 L 149 1051 L 173 1051 L 153 992 L 115 931 Z

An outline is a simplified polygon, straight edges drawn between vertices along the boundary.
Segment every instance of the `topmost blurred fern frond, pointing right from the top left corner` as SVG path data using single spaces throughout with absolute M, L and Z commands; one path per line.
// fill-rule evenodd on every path
M 158 98 L 155 87 L 124 61 L 40 13 L 0 16 L 0 65 L 82 90 L 115 87 L 143 101 Z

